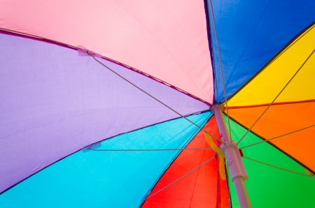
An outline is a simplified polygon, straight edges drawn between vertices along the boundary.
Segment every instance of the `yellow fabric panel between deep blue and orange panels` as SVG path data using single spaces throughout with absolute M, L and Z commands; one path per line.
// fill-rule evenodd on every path
M 241 89 L 228 106 L 271 103 L 307 57 L 315 50 L 315 24 L 288 45 L 268 66 Z M 315 52 L 275 102 L 315 98 Z

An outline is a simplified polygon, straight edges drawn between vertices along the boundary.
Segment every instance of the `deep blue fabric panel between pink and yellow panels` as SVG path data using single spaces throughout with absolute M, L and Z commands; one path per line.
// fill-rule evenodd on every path
M 211 3 L 210 0 L 207 1 L 218 77 L 219 98 L 216 98 L 216 101 L 223 102 L 223 82 Z M 292 38 L 315 21 L 314 0 L 212 0 L 212 4 L 228 97 Z

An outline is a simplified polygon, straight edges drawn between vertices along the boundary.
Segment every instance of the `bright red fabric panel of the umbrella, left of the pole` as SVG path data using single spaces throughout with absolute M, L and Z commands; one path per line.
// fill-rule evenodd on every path
M 204 126 L 211 134 L 218 136 L 218 127 L 215 117 Z M 186 148 L 208 147 L 207 141 L 204 138 L 204 133 L 200 131 L 195 138 L 188 144 Z M 161 188 L 171 184 L 176 179 L 179 179 L 184 174 L 193 170 L 198 165 L 214 156 L 212 150 L 187 150 L 182 151 L 176 158 L 174 163 L 162 176 L 158 184 L 151 194 L 159 191 Z M 220 186 L 217 187 L 217 180 L 220 181 Z M 217 193 L 217 190 L 221 190 Z M 221 206 L 228 207 L 228 189 L 226 181 L 221 181 L 218 175 L 218 166 L 216 160 L 213 160 L 198 170 L 190 173 L 180 181 L 177 181 L 172 186 L 169 186 L 160 193 L 148 198 L 144 202 L 143 207 L 217 207 L 217 198 L 220 198 Z

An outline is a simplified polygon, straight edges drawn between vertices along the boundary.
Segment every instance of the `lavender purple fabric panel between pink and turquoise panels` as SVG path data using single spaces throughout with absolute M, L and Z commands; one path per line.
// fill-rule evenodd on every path
M 178 117 L 91 57 L 0 34 L 0 193 L 88 144 Z M 209 107 L 101 60 L 181 114 Z

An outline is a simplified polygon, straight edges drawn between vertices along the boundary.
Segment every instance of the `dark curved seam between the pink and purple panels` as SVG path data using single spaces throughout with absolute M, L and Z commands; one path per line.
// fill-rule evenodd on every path
M 3 29 L 3 28 L 0 28 L 0 34 L 1 34 L 1 31 L 4 32 L 3 34 L 6 34 L 6 35 L 18 36 L 18 37 L 21 37 L 21 38 L 30 38 L 32 40 L 38 40 L 38 41 L 41 41 L 41 42 L 50 43 L 50 44 L 58 45 L 58 46 L 61 46 L 61 47 L 66 47 L 66 48 L 69 48 L 69 49 L 72 49 L 72 50 L 78 50 L 78 47 L 76 47 L 76 46 L 68 45 L 66 43 L 62 43 L 62 42 L 59 42 L 57 40 L 52 40 L 52 39 L 49 39 L 49 38 L 43 38 L 41 36 L 34 36 L 34 35 L 31 35 L 31 34 L 25 34 L 25 33 L 19 32 L 19 31 L 13 31 L 13 30 L 10 30 L 10 29 Z M 200 101 L 200 102 L 205 103 L 205 104 L 207 104 L 209 106 L 212 106 L 212 104 L 209 103 L 208 101 L 204 101 L 202 98 L 199 98 L 199 97 L 197 97 L 197 96 L 195 96 L 193 94 L 190 94 L 187 91 L 185 91 L 185 90 L 183 90 L 183 89 L 181 89 L 179 87 L 174 86 L 173 84 L 169 84 L 168 82 L 160 80 L 158 77 L 155 77 L 153 75 L 149 75 L 148 73 L 145 73 L 145 72 L 143 72 L 143 71 L 141 71 L 141 70 L 139 70 L 137 68 L 133 68 L 132 66 L 128 66 L 127 64 L 123 64 L 123 63 L 121 63 L 119 61 L 115 61 L 113 59 L 110 59 L 109 57 L 104 57 L 103 55 L 101 55 L 100 58 L 104 59 L 106 61 L 111 61 L 113 64 L 118 64 L 119 66 L 123 66 L 124 68 L 127 68 L 128 70 L 132 70 L 135 73 L 139 73 L 141 75 L 144 75 L 144 76 L 150 78 L 151 80 L 155 80 L 156 82 L 160 82 L 161 84 L 165 84 L 165 85 L 167 85 L 167 87 L 175 89 L 176 91 L 179 91 L 182 94 L 185 94 L 186 96 L 190 96 L 191 98 L 194 98 L 197 101 Z

